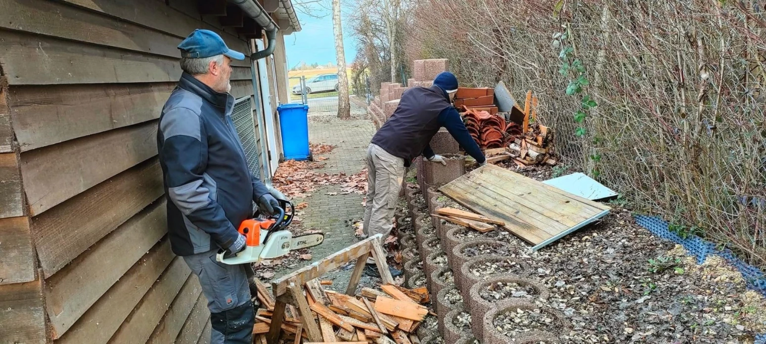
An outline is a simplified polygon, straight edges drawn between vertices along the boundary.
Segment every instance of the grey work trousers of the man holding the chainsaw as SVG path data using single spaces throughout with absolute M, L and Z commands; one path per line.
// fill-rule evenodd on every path
M 208 299 L 211 344 L 252 344 L 255 313 L 246 265 L 218 263 L 218 249 L 185 256 Z M 252 269 L 250 269 L 252 270 Z

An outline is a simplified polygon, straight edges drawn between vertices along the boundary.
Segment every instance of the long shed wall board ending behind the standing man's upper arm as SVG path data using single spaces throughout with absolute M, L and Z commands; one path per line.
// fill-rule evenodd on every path
M 66 201 L 157 155 L 157 123 L 149 121 L 21 154 L 31 215 Z

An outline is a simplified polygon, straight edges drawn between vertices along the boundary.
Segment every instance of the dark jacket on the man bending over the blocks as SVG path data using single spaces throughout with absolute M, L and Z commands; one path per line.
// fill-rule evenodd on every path
M 444 126 L 468 155 L 473 156 L 476 162 L 484 162 L 483 152 L 449 99 L 447 93 L 436 85 L 404 91 L 394 114 L 372 136 L 372 143 L 392 156 L 404 159 L 404 165 L 409 166 L 421 154 L 427 158 L 434 156 L 428 143 Z

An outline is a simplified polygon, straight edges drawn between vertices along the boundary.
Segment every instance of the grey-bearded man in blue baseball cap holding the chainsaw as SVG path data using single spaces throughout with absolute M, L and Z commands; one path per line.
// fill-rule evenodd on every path
M 216 261 L 219 249 L 236 254 L 245 238 L 237 228 L 260 211 L 279 207 L 269 189 L 250 173 L 231 111 L 231 59 L 218 34 L 195 30 L 181 44 L 178 81 L 159 117 L 157 148 L 167 198 L 172 251 L 199 278 L 211 313 L 211 343 L 251 344 L 254 304 L 249 264 Z

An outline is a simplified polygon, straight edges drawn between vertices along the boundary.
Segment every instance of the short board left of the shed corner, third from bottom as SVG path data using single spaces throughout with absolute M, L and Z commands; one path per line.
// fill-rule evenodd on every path
M 0 154 L 0 218 L 24 215 L 21 176 L 15 153 Z

